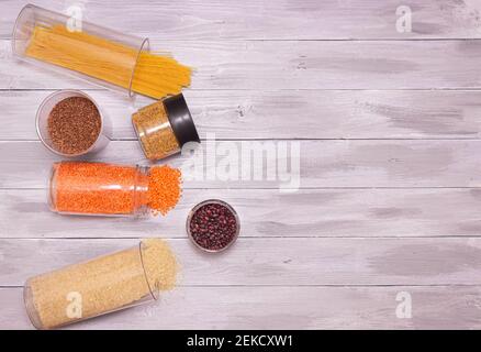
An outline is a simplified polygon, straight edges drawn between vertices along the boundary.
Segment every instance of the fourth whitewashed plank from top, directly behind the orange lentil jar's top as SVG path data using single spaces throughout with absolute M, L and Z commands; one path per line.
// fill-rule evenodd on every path
M 477 140 L 216 141 L 166 162 L 183 169 L 186 188 L 479 187 L 480 148 Z M 248 163 L 243 150 L 270 152 Z M 58 160 L 37 141 L 0 142 L 0 188 L 44 188 Z M 147 163 L 137 141 L 112 141 L 88 160 Z

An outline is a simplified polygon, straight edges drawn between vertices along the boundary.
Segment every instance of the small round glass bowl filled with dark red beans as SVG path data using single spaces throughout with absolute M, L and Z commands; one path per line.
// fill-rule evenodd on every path
M 237 212 L 219 199 L 204 200 L 193 207 L 187 217 L 186 228 L 192 243 L 210 253 L 230 248 L 240 231 Z

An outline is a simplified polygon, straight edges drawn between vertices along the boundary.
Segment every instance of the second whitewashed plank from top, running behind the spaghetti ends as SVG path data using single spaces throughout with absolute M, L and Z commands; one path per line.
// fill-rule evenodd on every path
M 3 43 L 3 46 L 8 44 Z M 481 41 L 164 42 L 197 68 L 194 89 L 480 88 Z M 45 68 L 0 59 L 0 89 L 92 87 Z

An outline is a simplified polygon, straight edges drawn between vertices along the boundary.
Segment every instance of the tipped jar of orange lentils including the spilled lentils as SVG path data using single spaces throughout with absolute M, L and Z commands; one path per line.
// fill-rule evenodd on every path
M 147 217 L 166 215 L 178 202 L 181 173 L 167 165 L 55 163 L 49 206 L 65 215 Z

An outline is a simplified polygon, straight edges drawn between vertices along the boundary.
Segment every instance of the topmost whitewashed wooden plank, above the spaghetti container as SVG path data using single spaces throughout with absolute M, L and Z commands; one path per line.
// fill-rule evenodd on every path
M 0 36 L 10 35 L 16 14 L 26 2 L 2 1 Z M 481 34 L 481 7 L 476 0 L 417 0 L 414 3 L 396 0 L 184 0 L 170 3 L 37 0 L 35 4 L 60 12 L 77 4 L 85 9 L 86 21 L 165 40 L 465 38 Z M 402 4 L 411 7 L 411 33 L 396 30 L 400 18 L 396 9 Z M 116 11 L 112 11 L 113 8 Z M 119 23 L 119 13 L 128 13 L 128 16 Z

